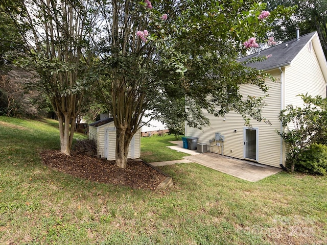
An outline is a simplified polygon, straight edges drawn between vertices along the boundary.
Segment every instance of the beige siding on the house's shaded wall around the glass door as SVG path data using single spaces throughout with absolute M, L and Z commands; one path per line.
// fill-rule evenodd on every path
M 276 77 L 277 81 L 266 81 L 269 87 L 269 96 L 265 98 L 266 106 L 262 111 L 262 115 L 272 125 L 268 125 L 265 122 L 257 122 L 253 119 L 251 120 L 251 124 L 253 127 L 259 128 L 259 163 L 279 167 L 281 138 L 275 130 L 280 129 L 280 122 L 278 120 L 279 111 L 281 110 L 281 97 L 279 96 L 281 93 L 281 84 L 279 82 L 280 72 L 279 70 L 275 70 L 271 74 Z M 247 95 L 257 97 L 264 95 L 258 87 L 249 84 L 242 85 L 240 92 L 244 98 Z M 243 159 L 243 129 L 245 126 L 241 115 L 231 112 L 225 115 L 225 120 L 223 117 L 215 117 L 208 113 L 205 113 L 205 115 L 209 118 L 211 125 L 202 127 L 202 130 L 186 127 L 186 136 L 198 137 L 198 142 L 210 145 L 210 151 L 221 154 L 221 146 L 209 143 L 210 139 L 215 138 L 215 133 L 219 132 L 225 136 L 223 155 Z M 236 133 L 234 133 L 235 130 L 237 130 Z M 218 142 L 222 144 L 222 142 Z

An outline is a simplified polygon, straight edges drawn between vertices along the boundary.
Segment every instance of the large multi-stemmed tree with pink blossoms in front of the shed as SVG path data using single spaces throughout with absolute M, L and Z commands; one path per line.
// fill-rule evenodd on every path
M 239 86 L 267 91 L 267 75 L 236 62 L 285 11 L 264 8 L 252 0 L 102 1 L 97 72 L 116 127 L 116 165 L 126 167 L 129 143 L 149 110 L 162 121 L 194 127 L 208 122 L 203 109 L 264 119 L 262 98 L 243 98 Z

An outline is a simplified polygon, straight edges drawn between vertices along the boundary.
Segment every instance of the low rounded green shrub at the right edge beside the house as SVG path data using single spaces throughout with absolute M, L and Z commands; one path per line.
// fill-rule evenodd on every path
M 295 164 L 295 170 L 314 175 L 326 175 L 327 145 L 313 143 L 303 151 Z

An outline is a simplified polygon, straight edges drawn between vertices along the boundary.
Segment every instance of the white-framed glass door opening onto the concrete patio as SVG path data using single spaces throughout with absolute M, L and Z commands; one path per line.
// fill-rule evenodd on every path
M 244 128 L 244 158 L 259 161 L 259 128 Z

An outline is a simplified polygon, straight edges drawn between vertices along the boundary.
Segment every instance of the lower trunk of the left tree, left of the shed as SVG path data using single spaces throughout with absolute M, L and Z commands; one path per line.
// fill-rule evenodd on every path
M 60 131 L 60 152 L 70 156 L 74 137 L 74 122 L 71 116 L 57 113 Z

